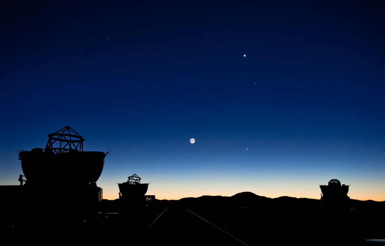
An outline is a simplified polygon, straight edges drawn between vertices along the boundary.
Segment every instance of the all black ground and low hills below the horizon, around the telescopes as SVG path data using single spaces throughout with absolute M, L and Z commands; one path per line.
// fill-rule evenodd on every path
M 271 199 L 242 192 L 232 197 L 155 200 L 143 214 L 126 216 L 117 213 L 118 204 L 119 199 L 103 200 L 102 213 L 77 226 L 41 216 L 33 229 L 8 228 L 2 238 L 16 244 L 20 235 L 30 235 L 23 242 L 59 245 L 361 245 L 366 239 L 385 238 L 380 223 L 385 202 L 351 200 L 353 210 L 333 212 L 321 211 L 317 199 Z

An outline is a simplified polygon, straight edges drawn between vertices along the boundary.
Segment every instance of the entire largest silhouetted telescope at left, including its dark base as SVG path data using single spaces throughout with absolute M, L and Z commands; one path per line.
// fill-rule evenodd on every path
M 20 185 L 0 188 L 4 209 L 12 214 L 7 223 L 12 226 L 30 230 L 37 220 L 45 218 L 63 226 L 64 221 L 81 224 L 99 211 L 103 189 L 96 181 L 110 150 L 83 151 L 84 138 L 69 126 L 48 137 L 44 151 L 18 151 L 24 173 L 19 175 Z M 55 219 L 57 216 L 60 220 Z

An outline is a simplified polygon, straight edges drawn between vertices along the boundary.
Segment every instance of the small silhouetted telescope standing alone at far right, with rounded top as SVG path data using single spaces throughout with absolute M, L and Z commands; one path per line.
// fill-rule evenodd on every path
M 331 179 L 328 185 L 320 185 L 321 207 L 323 209 L 350 209 L 348 197 L 350 185 L 341 185 L 338 179 Z

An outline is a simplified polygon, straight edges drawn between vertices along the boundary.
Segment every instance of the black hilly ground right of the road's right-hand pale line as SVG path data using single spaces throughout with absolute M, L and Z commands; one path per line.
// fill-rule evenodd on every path
M 384 215 L 385 202 L 351 200 L 354 209 L 345 212 L 323 212 L 317 199 L 271 199 L 251 192 L 159 204 L 162 202 L 174 213 L 182 207 L 188 209 L 248 245 L 271 241 L 313 244 L 308 240 L 365 243 L 365 239 L 385 238 L 384 226 L 378 223 Z

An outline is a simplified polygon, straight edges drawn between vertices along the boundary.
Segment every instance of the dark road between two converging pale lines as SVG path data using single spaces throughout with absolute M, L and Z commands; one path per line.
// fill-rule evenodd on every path
M 140 245 L 248 245 L 185 208 L 167 208 L 146 230 Z

